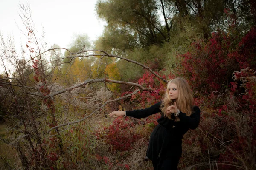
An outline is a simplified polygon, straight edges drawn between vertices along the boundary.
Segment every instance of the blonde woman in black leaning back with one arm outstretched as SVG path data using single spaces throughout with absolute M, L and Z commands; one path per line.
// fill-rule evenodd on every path
M 154 170 L 177 170 L 183 135 L 189 129 L 197 128 L 200 121 L 200 109 L 193 104 L 188 82 L 177 77 L 168 82 L 163 101 L 146 109 L 113 111 L 109 116 L 145 118 L 161 112 L 158 125 L 150 136 L 147 157 L 152 161 Z

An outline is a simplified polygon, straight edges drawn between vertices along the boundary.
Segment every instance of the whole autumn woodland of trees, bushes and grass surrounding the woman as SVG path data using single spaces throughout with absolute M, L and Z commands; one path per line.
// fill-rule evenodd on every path
M 94 44 L 48 48 L 24 4 L 26 48 L 0 32 L 1 169 L 152 170 L 140 160 L 160 115 L 108 113 L 159 102 L 178 76 L 201 108 L 179 169 L 256 169 L 254 0 L 102 0 L 96 11 L 107 25 Z

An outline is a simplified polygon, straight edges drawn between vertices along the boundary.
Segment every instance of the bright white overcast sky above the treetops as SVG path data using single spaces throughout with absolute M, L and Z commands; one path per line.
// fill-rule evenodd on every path
M 35 28 L 41 35 L 44 26 L 49 47 L 57 44 L 68 48 L 74 34 L 87 34 L 93 41 L 104 29 L 104 22 L 96 17 L 97 0 L 0 0 L 0 31 L 5 38 L 7 35 L 14 36 L 17 50 L 20 43 L 26 45 L 26 39 L 16 25 L 23 28 L 18 14 L 19 2 L 25 6 L 29 3 Z

